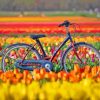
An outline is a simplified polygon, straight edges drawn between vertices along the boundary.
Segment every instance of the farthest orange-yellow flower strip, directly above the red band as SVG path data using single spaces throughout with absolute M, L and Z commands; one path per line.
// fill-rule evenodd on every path
M 0 22 L 99 22 L 100 18 L 90 18 L 81 16 L 30 16 L 30 17 L 0 17 Z

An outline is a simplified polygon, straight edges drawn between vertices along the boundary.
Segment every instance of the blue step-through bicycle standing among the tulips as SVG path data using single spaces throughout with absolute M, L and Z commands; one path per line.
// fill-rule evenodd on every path
M 36 41 L 36 44 L 29 45 L 24 43 L 17 43 L 8 46 L 5 49 L 4 56 L 2 57 L 2 70 L 5 72 L 7 70 L 13 70 L 14 68 L 19 68 L 22 70 L 32 71 L 35 68 L 46 68 L 47 71 L 52 71 L 53 60 L 59 52 L 59 50 L 70 41 L 70 46 L 63 51 L 62 57 L 60 59 L 60 70 L 71 71 L 75 64 L 80 67 L 85 67 L 89 65 L 99 66 L 100 65 L 100 53 L 91 44 L 85 42 L 75 43 L 69 32 L 69 26 L 73 25 L 69 21 L 64 21 L 59 25 L 65 26 L 67 29 L 67 37 L 60 44 L 60 46 L 55 50 L 52 57 L 48 57 L 41 42 L 40 38 L 45 37 L 45 35 L 31 35 L 31 38 Z M 39 51 L 35 48 L 38 45 Z

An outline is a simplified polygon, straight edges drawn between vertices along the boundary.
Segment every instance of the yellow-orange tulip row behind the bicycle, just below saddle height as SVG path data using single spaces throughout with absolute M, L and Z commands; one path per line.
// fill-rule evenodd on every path
M 65 36 L 48 36 L 48 37 L 44 37 L 41 38 L 40 41 L 43 43 L 44 46 L 48 46 L 49 44 L 55 44 L 58 45 L 59 43 L 61 43 L 66 37 Z M 7 37 L 7 36 L 3 36 L 0 37 L 0 45 L 4 46 L 5 44 L 14 44 L 14 43 L 28 43 L 28 44 L 33 44 L 35 41 L 32 40 L 29 36 L 25 36 L 25 37 Z M 74 40 L 76 42 L 88 42 L 88 43 L 94 43 L 94 42 L 100 42 L 100 38 L 99 37 L 91 37 L 91 36 L 85 36 L 85 37 L 74 37 Z

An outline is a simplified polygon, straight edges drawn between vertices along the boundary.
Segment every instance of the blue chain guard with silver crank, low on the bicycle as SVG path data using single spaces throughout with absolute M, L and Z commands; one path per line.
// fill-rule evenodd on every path
M 53 68 L 52 62 L 48 60 L 17 60 L 15 67 L 23 70 L 34 70 L 35 68 L 45 68 L 47 71 L 51 71 Z

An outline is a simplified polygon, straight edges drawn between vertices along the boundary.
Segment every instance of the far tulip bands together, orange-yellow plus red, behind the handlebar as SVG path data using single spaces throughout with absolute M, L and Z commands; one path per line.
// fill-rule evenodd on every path
M 70 27 L 71 32 L 98 33 L 100 32 L 99 18 L 85 17 L 0 17 L 0 33 L 22 34 L 22 33 L 44 33 L 65 34 L 64 27 L 58 27 L 60 23 L 69 20 L 75 23 Z

